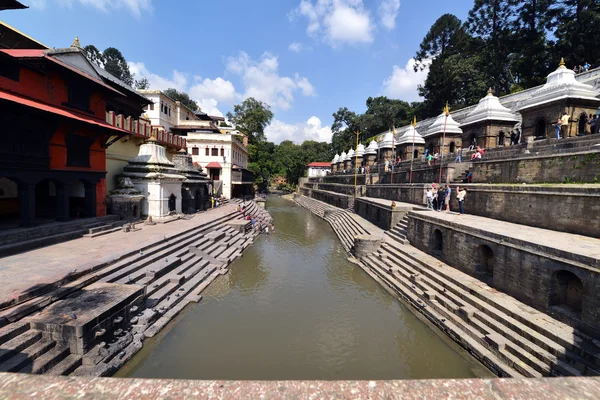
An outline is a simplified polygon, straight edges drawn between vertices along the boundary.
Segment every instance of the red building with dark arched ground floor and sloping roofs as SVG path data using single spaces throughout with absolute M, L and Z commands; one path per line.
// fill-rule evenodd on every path
M 0 227 L 105 215 L 105 150 L 131 134 L 107 106 L 126 101 L 78 47 L 0 50 Z

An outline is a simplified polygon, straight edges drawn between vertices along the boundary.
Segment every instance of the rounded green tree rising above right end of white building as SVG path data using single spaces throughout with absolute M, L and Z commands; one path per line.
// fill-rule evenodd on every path
M 249 97 L 233 106 L 233 113 L 227 113 L 227 119 L 240 131 L 248 135 L 250 143 L 264 141 L 265 128 L 273 119 L 273 112 L 268 104 Z

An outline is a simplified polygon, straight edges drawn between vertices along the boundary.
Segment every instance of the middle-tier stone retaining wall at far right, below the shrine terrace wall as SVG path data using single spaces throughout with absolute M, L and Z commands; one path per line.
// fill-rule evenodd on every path
M 473 163 L 476 183 L 597 183 L 600 150 Z

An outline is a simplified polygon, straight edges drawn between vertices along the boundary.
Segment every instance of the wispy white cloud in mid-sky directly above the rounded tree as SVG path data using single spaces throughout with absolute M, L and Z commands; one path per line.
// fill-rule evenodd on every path
M 314 96 L 315 90 L 309 80 L 295 74 L 293 77 L 279 75 L 277 56 L 264 53 L 260 60 L 253 60 L 247 53 L 227 60 L 227 70 L 239 75 L 246 92 L 243 98 L 254 97 L 274 109 L 288 110 L 298 90 L 304 96 Z

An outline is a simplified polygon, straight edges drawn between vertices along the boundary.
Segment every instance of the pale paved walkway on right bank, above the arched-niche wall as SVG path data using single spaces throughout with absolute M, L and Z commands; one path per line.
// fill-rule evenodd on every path
M 418 211 L 419 214 L 461 225 L 465 230 L 481 230 L 534 245 L 550 247 L 566 253 L 600 259 L 600 240 L 572 233 L 535 228 L 477 215 L 455 212 Z

